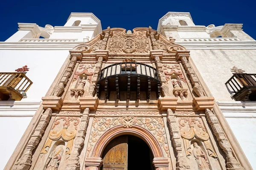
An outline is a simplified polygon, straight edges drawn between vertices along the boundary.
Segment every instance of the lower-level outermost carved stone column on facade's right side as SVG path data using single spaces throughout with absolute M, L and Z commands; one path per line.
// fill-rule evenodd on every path
M 206 109 L 205 115 L 207 117 L 209 124 L 212 127 L 213 133 L 216 136 L 221 149 L 224 151 L 224 153 L 227 156 L 227 169 L 228 170 L 245 170 L 245 168 L 242 167 L 241 164 L 233 156 L 231 145 L 228 142 L 227 137 L 225 136 L 224 132 L 221 129 L 221 125 L 218 122 L 218 118 L 209 109 Z

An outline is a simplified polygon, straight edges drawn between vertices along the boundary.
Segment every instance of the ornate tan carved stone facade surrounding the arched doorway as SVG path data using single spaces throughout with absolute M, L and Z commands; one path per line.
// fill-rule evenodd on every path
M 119 70 L 113 63 L 120 64 Z M 148 65 L 140 65 L 147 91 L 132 91 L 129 84 L 132 76 L 140 82 L 139 63 Z M 207 96 L 189 63 L 189 51 L 151 27 L 133 32 L 107 28 L 71 50 L 63 67 L 52 94 L 43 97 L 42 116 L 17 151 L 12 170 L 99 170 L 104 148 L 122 135 L 143 139 L 156 170 L 244 169 L 212 112 L 214 98 Z M 121 80 L 114 77 L 117 72 Z M 129 91 L 136 100 L 99 99 L 101 77 L 106 78 L 103 93 L 122 96 Z M 127 91 L 108 82 L 126 81 L 124 77 Z M 158 89 L 151 89 L 152 79 L 159 96 Z

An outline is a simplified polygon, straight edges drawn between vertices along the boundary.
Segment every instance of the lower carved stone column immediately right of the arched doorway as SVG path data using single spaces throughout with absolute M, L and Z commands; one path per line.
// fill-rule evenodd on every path
M 175 116 L 171 109 L 167 110 L 167 121 L 169 123 L 170 133 L 172 135 L 172 142 L 177 152 L 176 170 L 190 170 L 189 164 L 187 163 L 186 159 L 183 157 L 182 154 L 182 140 L 180 136 L 180 130 L 179 127 L 177 126 Z

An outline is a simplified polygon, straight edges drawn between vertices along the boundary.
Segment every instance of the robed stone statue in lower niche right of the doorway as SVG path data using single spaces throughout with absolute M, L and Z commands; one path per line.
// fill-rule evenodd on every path
M 197 142 L 194 142 L 193 154 L 195 160 L 198 163 L 198 170 L 210 170 L 209 161 L 204 151 L 198 146 Z

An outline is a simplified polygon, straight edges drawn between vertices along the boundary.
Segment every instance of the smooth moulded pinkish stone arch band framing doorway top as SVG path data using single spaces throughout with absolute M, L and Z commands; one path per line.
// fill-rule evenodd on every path
M 157 139 L 155 139 L 155 137 L 150 132 L 148 132 L 148 130 L 138 125 L 133 125 L 132 128 L 126 128 L 123 127 L 123 125 L 119 125 L 106 131 L 95 144 L 92 151 L 92 156 L 101 157 L 103 150 L 108 145 L 108 143 L 112 139 L 121 135 L 134 135 L 139 137 L 140 139 L 143 139 L 143 141 L 148 144 L 148 147 L 152 151 L 154 158 L 164 157 L 163 151 L 160 147 L 160 144 L 157 142 Z

